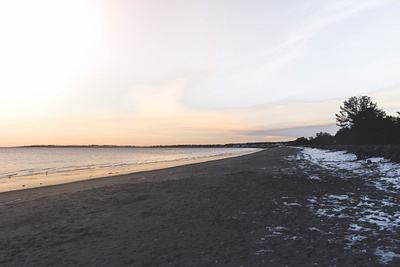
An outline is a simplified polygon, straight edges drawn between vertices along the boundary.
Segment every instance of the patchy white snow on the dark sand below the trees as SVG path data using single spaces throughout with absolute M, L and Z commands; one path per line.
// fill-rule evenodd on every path
M 325 194 L 310 196 L 307 208 L 318 217 L 344 219 L 348 224 L 345 230 L 346 249 L 360 249 L 366 239 L 374 238 L 389 242 L 392 247 L 370 244 L 374 254 L 380 257 L 380 263 L 387 264 L 394 258 L 400 258 L 400 241 L 394 238 L 400 230 L 400 164 L 384 158 L 357 160 L 356 155 L 345 151 L 327 151 L 315 148 L 301 148 L 294 156 L 286 157 L 292 164 L 292 173 L 302 173 L 310 180 L 326 179 L 362 179 L 371 189 L 364 192 L 348 192 L 344 195 Z M 361 192 L 361 191 L 360 191 Z M 311 231 L 320 231 L 311 227 Z M 332 228 L 332 233 L 335 233 Z M 391 234 L 392 233 L 392 234 Z M 393 235 L 394 234 L 394 235 Z M 336 238 L 328 239 L 335 242 Z M 375 246 L 375 247 L 374 247 Z M 354 248 L 353 248 L 354 247 Z M 361 250 L 365 251 L 365 249 Z

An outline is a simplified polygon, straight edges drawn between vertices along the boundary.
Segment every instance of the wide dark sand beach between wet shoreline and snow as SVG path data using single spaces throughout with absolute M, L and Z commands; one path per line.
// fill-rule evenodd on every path
M 369 187 L 287 173 L 283 157 L 296 151 L 1 193 L 0 265 L 378 266 L 376 240 L 348 249 L 350 222 L 307 207 Z

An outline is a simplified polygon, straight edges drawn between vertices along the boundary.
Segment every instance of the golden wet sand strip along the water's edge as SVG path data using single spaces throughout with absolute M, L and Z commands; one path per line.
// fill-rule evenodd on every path
M 260 150 L 262 151 L 262 150 Z M 200 157 L 193 159 L 181 159 L 172 161 L 163 161 L 155 163 L 142 163 L 137 165 L 124 165 L 118 167 L 106 167 L 102 169 L 86 169 L 77 170 L 64 173 L 52 173 L 52 174 L 39 174 L 22 177 L 11 177 L 0 179 L 0 193 L 27 190 L 32 188 L 40 188 L 46 186 L 55 186 L 68 183 L 74 183 L 85 180 L 111 178 L 119 175 L 127 175 L 137 172 L 146 172 L 153 170 L 160 170 L 196 163 L 203 163 L 208 161 L 221 160 L 225 158 L 240 157 L 247 154 L 257 153 L 259 151 L 253 151 L 248 153 L 223 155 L 223 156 L 209 156 Z

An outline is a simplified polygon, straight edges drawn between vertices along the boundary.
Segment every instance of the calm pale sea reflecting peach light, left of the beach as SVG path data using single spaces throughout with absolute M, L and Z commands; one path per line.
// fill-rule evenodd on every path
M 0 148 L 0 178 L 29 177 L 250 153 L 254 148 Z

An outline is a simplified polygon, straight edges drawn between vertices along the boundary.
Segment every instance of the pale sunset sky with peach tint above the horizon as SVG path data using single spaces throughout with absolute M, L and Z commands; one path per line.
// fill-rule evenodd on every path
M 400 1 L 0 0 L 0 146 L 270 142 L 400 111 Z

